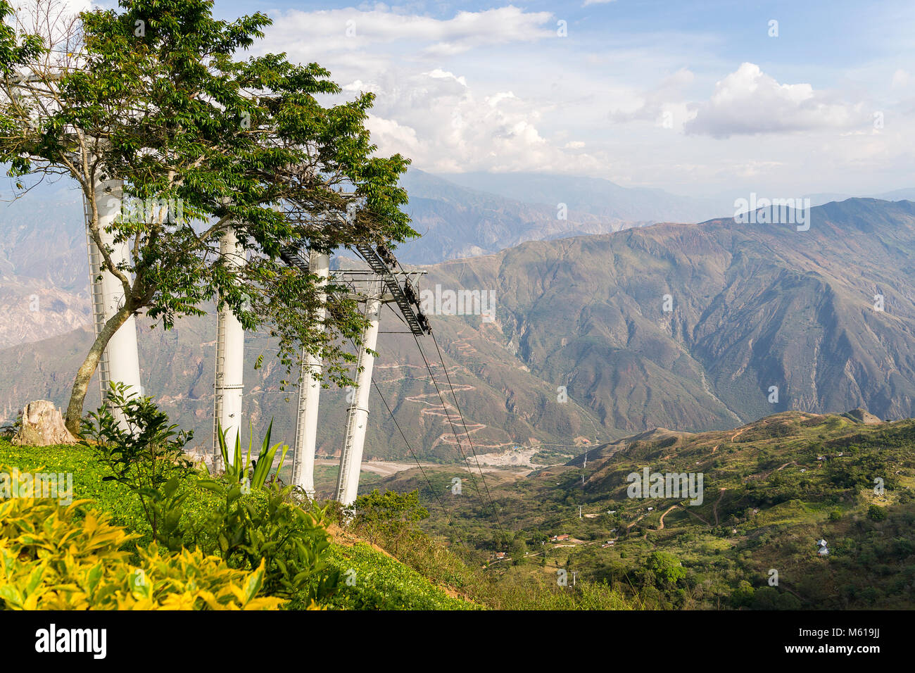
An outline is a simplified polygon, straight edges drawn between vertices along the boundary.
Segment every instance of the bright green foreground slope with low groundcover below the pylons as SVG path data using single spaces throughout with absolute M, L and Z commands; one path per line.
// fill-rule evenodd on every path
M 108 472 L 81 446 L 19 447 L 0 439 L 0 464 L 21 472 L 72 475 L 72 498 L 90 499 L 113 516 L 112 523 L 138 534 L 132 545 L 147 545 L 152 532 L 143 509 L 121 483 L 106 480 Z M 252 494 L 252 497 L 255 494 Z M 216 507 L 216 496 L 194 491 L 186 502 L 186 526 L 204 521 Z M 339 513 L 335 515 L 338 517 Z M 554 582 L 523 573 L 495 578 L 479 567 L 462 545 L 433 538 L 407 526 L 381 533 L 373 528 L 328 526 L 326 562 L 339 573 L 337 592 L 324 603 L 340 610 L 480 610 L 487 608 L 614 609 L 638 604 L 606 583 L 579 583 L 560 588 Z M 468 562 L 469 561 L 469 562 Z M 292 607 L 300 607 L 293 602 Z

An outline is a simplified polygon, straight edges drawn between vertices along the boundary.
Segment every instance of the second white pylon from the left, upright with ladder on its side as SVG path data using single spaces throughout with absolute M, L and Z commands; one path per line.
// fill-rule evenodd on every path
M 227 266 L 244 266 L 244 248 L 231 227 L 222 234 L 220 255 Z M 244 392 L 244 328 L 228 306 L 216 323 L 216 379 L 213 385 L 213 464 L 221 460 L 218 432 L 225 433 L 229 461 L 234 460 L 235 440 L 242 432 Z

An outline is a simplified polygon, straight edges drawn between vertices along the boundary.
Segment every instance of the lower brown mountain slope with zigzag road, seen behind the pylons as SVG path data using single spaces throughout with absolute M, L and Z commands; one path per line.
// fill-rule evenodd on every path
M 175 329 L 150 329 L 140 320 L 141 376 L 145 392 L 156 396 L 161 407 L 183 428 L 194 429 L 194 445 L 210 446 L 212 432 L 213 374 L 216 317 L 211 320 L 180 320 Z M 386 313 L 382 331 L 398 331 L 402 323 Z M 587 409 L 575 404 L 549 404 L 554 390 L 525 371 L 522 363 L 504 349 L 479 353 L 481 343 L 475 331 L 463 334 L 458 318 L 436 321 L 440 342 L 459 353 L 458 361 L 445 354 L 448 374 L 455 384 L 458 404 L 468 420 L 474 449 L 480 453 L 529 446 L 562 445 L 576 453 L 577 446 L 597 442 L 606 433 Z M 71 331 L 50 339 L 0 350 L 0 368 L 15 376 L 0 378 L 0 425 L 16 418 L 24 401 L 50 399 L 63 406 L 70 395 L 73 376 L 92 343 L 87 330 Z M 484 342 L 482 347 L 489 347 Z M 274 440 L 289 444 L 295 439 L 296 385 L 281 390 L 285 369 L 271 357 L 274 344 L 263 336 L 246 335 L 244 373 L 244 423 L 253 424 L 255 438 L 274 422 Z M 448 414 L 457 425 L 460 446 L 451 421 L 425 369 L 413 338 L 406 334 L 382 333 L 379 338 L 374 379 L 394 416 L 404 429 L 416 454 L 426 461 L 460 461 L 471 449 L 438 363 L 436 347 L 423 340 L 425 355 L 433 363 L 436 383 L 446 398 Z M 255 369 L 257 356 L 264 354 L 264 366 Z M 97 380 L 90 385 L 86 408 L 99 401 Z M 339 454 L 346 425 L 346 390 L 331 387 L 321 393 L 321 430 L 318 452 Z M 372 391 L 371 423 L 366 441 L 366 460 L 410 458 L 398 429 L 382 398 Z M 245 434 L 247 434 L 247 427 Z

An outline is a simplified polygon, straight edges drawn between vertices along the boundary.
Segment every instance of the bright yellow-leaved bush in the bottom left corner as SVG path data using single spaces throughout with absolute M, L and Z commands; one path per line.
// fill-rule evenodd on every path
M 16 470 L 0 466 L 0 473 Z M 59 505 L 49 498 L 0 500 L 0 608 L 13 610 L 271 610 L 283 601 L 259 597 L 264 563 L 231 570 L 222 559 L 155 544 L 137 548 L 139 564 L 121 548 L 134 539 L 110 516 L 81 511 L 90 501 Z

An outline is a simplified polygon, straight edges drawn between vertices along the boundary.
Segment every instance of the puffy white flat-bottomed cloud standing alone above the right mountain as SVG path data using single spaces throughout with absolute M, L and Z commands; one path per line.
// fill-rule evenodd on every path
M 694 119 L 684 125 L 686 133 L 718 138 L 848 129 L 871 121 L 861 103 L 830 102 L 810 84 L 780 84 L 754 63 L 742 63 L 718 81 L 711 99 L 694 111 Z

